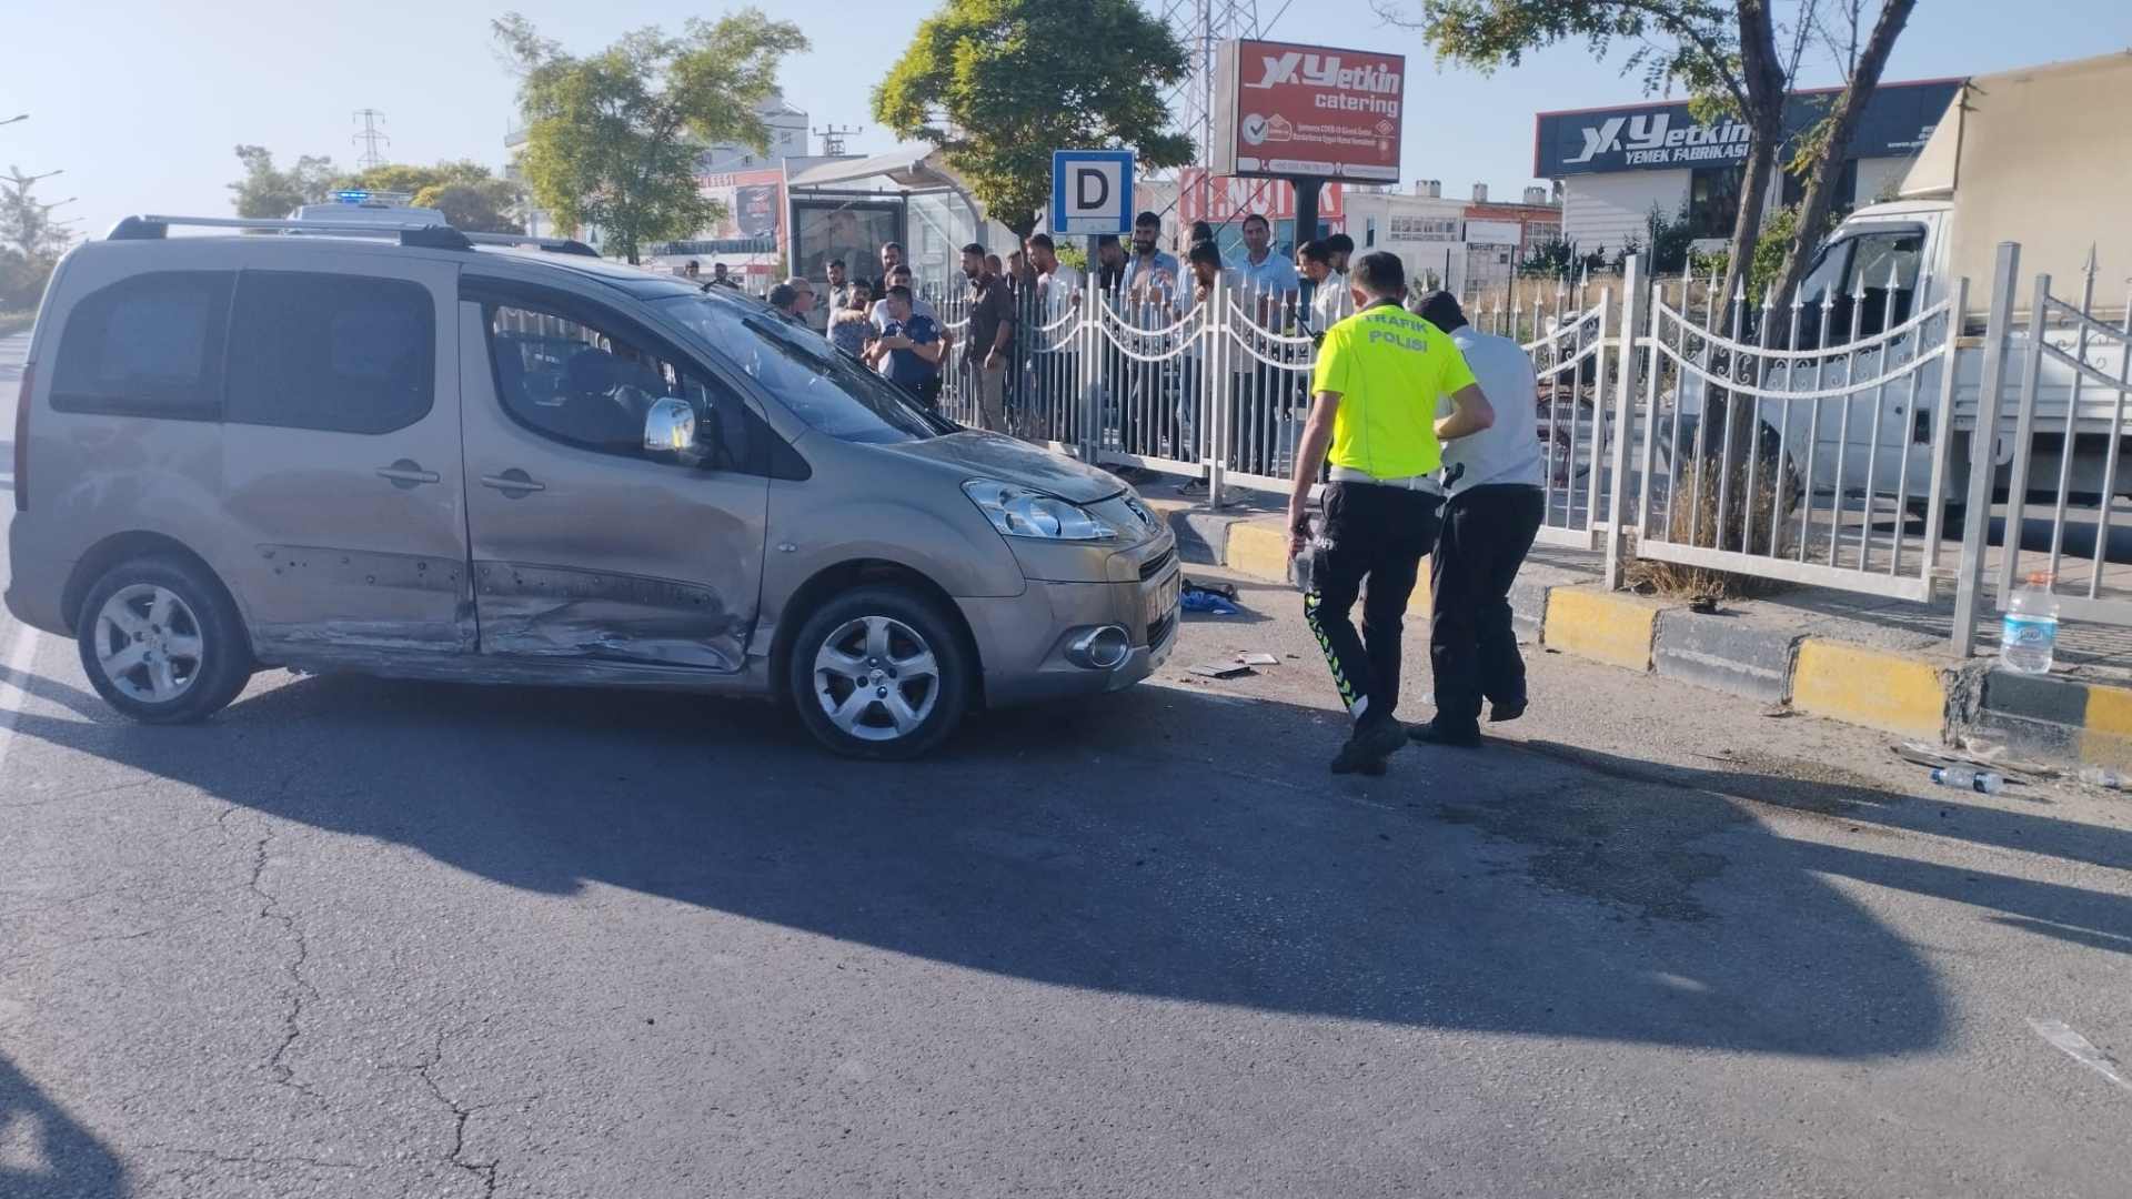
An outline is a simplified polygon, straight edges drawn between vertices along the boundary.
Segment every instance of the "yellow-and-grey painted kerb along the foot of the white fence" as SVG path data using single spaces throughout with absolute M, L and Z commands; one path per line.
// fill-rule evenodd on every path
M 1264 497 L 1213 512 L 1156 491 L 1149 503 L 1177 529 L 1185 561 L 1286 578 L 1281 514 Z M 1797 587 L 1693 612 L 1684 602 L 1605 591 L 1599 555 L 1548 546 L 1533 550 L 1512 606 L 1520 638 L 1552 653 L 1904 738 L 2006 745 L 2023 760 L 2132 770 L 2132 629 L 2062 625 L 2057 670 L 2015 674 L 1996 666 L 1996 627 L 1978 629 L 1978 657 L 1949 653 L 1951 600 L 1927 606 Z M 1424 574 L 1409 614 L 1426 612 Z

